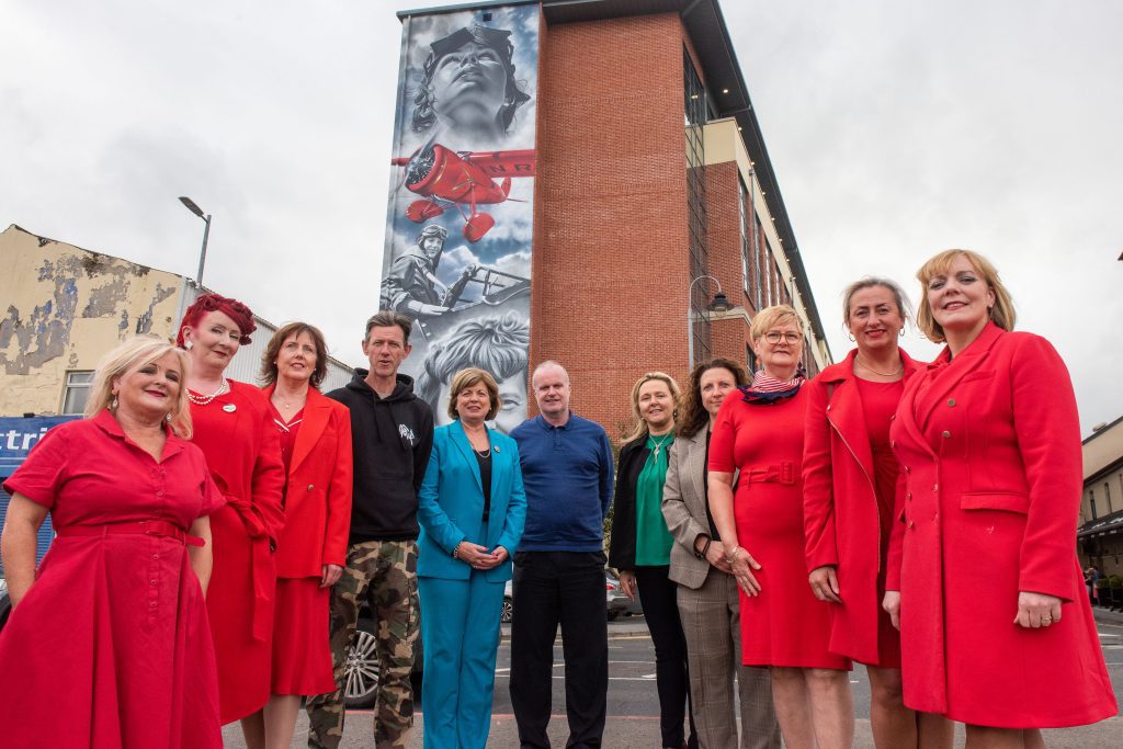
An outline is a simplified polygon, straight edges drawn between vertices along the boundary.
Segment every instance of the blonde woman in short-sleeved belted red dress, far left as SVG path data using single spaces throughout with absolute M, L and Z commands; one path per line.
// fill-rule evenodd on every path
M 186 371 L 163 340 L 118 346 L 86 418 L 48 431 L 4 482 L 7 747 L 222 746 L 203 599 L 208 515 L 225 502 L 186 440 Z M 58 536 L 36 570 L 47 512 Z

